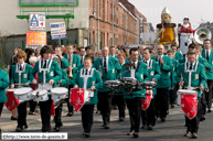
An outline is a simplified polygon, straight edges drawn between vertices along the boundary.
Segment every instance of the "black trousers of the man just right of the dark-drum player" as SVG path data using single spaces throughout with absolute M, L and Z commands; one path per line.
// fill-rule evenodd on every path
M 156 107 L 155 98 L 151 99 L 150 106 L 146 110 L 141 110 L 142 124 L 156 126 Z

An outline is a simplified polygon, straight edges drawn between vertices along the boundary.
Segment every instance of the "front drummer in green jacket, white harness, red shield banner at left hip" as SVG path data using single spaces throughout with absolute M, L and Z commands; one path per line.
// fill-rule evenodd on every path
M 84 67 L 79 69 L 76 75 L 76 79 L 74 83 L 75 88 L 86 88 L 94 91 L 94 97 L 90 99 L 89 104 L 85 104 L 81 111 L 82 111 L 82 123 L 84 128 L 83 134 L 86 138 L 90 135 L 90 129 L 93 126 L 93 112 L 94 106 L 98 102 L 97 99 L 97 89 L 103 86 L 103 80 L 98 70 L 92 67 L 94 62 L 94 56 L 86 55 L 84 58 Z M 84 77 L 87 76 L 87 79 Z

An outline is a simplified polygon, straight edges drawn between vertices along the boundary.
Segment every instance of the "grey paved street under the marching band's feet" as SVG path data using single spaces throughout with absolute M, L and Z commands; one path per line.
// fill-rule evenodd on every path
M 94 126 L 92 128 L 90 138 L 85 138 L 82 135 L 82 118 L 81 112 L 75 112 L 73 117 L 66 117 L 66 105 L 63 108 L 63 127 L 61 128 L 61 132 L 68 133 L 68 140 L 71 141 L 128 141 L 128 140 L 142 140 L 142 141 L 189 141 L 188 137 L 183 137 L 187 131 L 184 127 L 184 116 L 180 107 L 175 107 L 170 109 L 170 113 L 166 120 L 166 122 L 157 121 L 153 130 L 145 130 L 140 129 L 139 138 L 135 139 L 132 137 L 126 135 L 129 131 L 129 118 L 128 110 L 126 109 L 126 116 L 124 122 L 118 121 L 118 110 L 111 110 L 111 123 L 110 129 L 104 129 L 102 127 L 102 117 L 97 113 L 94 113 Z M 39 108 L 38 108 L 39 109 Z M 9 118 L 3 118 L 8 116 L 8 109 L 3 109 L 2 119 L 0 126 L 2 130 L 7 127 L 8 132 L 14 132 L 17 122 L 11 121 Z M 212 122 L 213 113 L 206 113 L 206 120 L 200 122 L 199 127 L 199 138 L 195 140 L 199 141 L 212 141 L 212 131 L 213 131 L 213 122 Z M 38 119 L 38 120 L 36 120 Z M 41 118 L 39 116 L 28 116 L 29 129 L 23 132 L 41 132 Z M 10 126 L 8 126 L 10 124 Z M 52 131 L 54 123 L 52 121 Z

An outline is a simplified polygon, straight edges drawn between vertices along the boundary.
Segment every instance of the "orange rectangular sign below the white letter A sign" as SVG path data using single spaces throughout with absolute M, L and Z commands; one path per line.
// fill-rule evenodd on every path
M 46 32 L 26 31 L 26 47 L 41 48 L 46 45 Z

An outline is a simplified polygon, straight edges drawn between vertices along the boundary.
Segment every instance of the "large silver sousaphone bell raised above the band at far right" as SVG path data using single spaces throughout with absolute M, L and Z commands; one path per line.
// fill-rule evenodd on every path
M 194 33 L 194 40 L 199 44 L 203 44 L 204 40 L 211 40 L 212 39 L 212 33 L 209 29 L 206 28 L 200 28 L 195 31 Z

